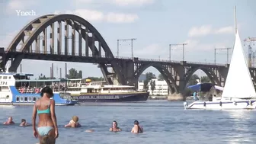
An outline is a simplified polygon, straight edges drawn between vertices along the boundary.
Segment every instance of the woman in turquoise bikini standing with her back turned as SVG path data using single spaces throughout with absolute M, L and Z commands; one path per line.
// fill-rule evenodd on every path
M 52 88 L 45 87 L 41 90 L 41 98 L 34 104 L 32 125 L 34 136 L 40 139 L 40 143 L 43 143 L 42 141 L 51 141 L 51 144 L 55 144 L 56 138 L 59 136 L 55 115 L 55 101 L 50 99 L 52 97 Z M 39 122 L 36 128 L 37 114 Z

